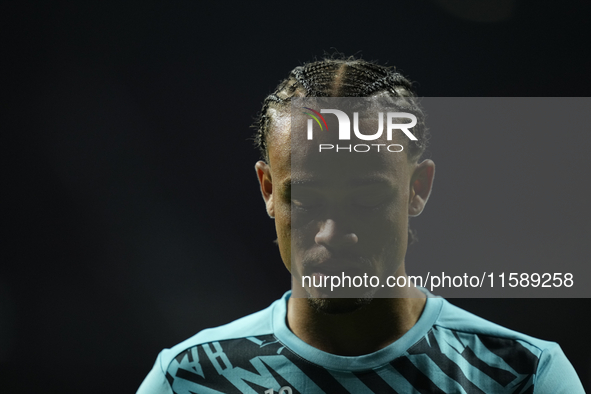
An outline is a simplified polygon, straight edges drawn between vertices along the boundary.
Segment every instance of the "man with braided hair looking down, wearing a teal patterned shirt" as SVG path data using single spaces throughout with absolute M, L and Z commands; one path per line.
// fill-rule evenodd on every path
M 337 97 L 366 99 L 337 110 Z M 419 160 L 426 134 L 410 82 L 390 68 L 327 59 L 294 69 L 264 102 L 255 166 L 293 293 L 164 350 L 138 393 L 582 393 L 556 343 L 414 286 L 334 288 L 335 277 L 410 282 L 408 218 L 435 174 Z

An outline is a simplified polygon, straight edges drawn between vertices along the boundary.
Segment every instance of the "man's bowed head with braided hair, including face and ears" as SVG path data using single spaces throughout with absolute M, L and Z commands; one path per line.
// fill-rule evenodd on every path
M 403 97 L 414 103 L 410 82 L 391 68 L 359 59 L 308 63 L 265 99 L 256 135 L 265 159 L 256 165 L 261 191 L 294 280 L 342 271 L 404 275 L 408 218 L 422 211 L 434 175 L 433 162 L 418 162 L 426 147 L 422 113 L 413 129 L 417 141 L 404 136 L 392 141 L 404 146 L 403 153 L 365 155 L 361 164 L 342 154 L 314 154 L 309 144 L 292 138 L 291 101 L 297 97 Z M 308 294 L 325 311 L 362 304 L 319 301 L 328 295 L 315 289 Z

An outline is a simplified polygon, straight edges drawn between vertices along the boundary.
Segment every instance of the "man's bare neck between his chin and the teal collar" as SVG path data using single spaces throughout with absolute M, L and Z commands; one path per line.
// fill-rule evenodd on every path
M 405 298 L 374 298 L 349 313 L 319 311 L 307 298 L 290 298 L 287 324 L 307 344 L 340 356 L 360 356 L 390 345 L 415 325 L 425 307 L 426 297 L 407 288 Z M 353 303 L 348 299 L 329 302 Z

